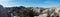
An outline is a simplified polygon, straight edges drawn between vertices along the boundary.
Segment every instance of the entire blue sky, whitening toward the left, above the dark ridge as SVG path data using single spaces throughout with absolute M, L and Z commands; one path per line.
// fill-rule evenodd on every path
M 4 7 L 57 7 L 60 0 L 0 0 L 0 4 Z

